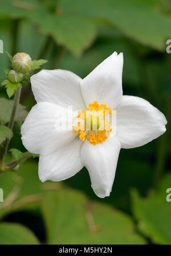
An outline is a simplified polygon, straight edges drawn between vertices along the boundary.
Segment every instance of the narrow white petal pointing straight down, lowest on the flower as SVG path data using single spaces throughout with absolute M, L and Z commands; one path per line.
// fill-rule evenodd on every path
M 83 143 L 82 163 L 89 172 L 92 189 L 98 197 L 108 197 L 111 193 L 119 152 L 120 142 L 115 137 L 96 145 L 87 140 Z

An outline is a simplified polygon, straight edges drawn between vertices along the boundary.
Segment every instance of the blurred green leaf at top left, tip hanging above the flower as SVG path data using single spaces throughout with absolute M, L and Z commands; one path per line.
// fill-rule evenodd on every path
M 1 5 L 2 17 L 29 19 L 40 27 L 43 34 L 51 35 L 57 43 L 75 55 L 80 55 L 95 39 L 95 25 L 84 15 L 66 14 L 60 8 L 51 14 L 38 3 L 27 3 L 26 9 L 23 9 L 15 2 L 7 2 Z

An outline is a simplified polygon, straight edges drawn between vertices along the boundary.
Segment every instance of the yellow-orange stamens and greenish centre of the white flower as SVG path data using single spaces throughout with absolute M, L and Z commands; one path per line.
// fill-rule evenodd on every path
M 107 114 L 112 114 L 112 110 L 105 104 L 99 105 L 97 101 L 89 104 L 87 111 L 79 111 L 76 125 L 73 126 L 74 132 L 79 133 L 79 138 L 83 141 L 87 137 L 93 145 L 102 143 L 112 131 L 108 119 L 104 118 Z

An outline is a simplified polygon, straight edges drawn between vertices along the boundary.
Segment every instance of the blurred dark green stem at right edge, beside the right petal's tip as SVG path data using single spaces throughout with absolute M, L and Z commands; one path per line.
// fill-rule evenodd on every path
M 160 138 L 160 142 L 158 144 L 158 151 L 157 151 L 157 161 L 154 167 L 154 180 L 153 180 L 153 187 L 158 189 L 160 185 L 160 180 L 162 173 L 165 169 L 165 162 L 169 154 L 168 150 L 168 143 L 169 143 L 169 135 L 170 135 L 170 126 L 171 126 L 171 99 L 168 102 L 167 107 L 167 115 L 166 118 L 168 120 L 168 125 L 166 126 L 166 132 Z

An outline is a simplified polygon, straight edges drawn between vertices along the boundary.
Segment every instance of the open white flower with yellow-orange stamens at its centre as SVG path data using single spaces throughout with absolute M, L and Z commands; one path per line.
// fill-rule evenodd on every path
M 40 154 L 42 182 L 62 181 L 86 166 L 95 194 L 109 196 L 120 149 L 143 146 L 165 132 L 166 118 L 156 107 L 145 99 L 123 95 L 122 70 L 123 54 L 115 52 L 84 79 L 66 70 L 42 70 L 31 77 L 37 104 L 23 123 L 22 141 L 27 150 Z M 82 122 L 76 122 L 72 130 L 55 129 L 56 113 L 65 113 L 68 106 L 80 110 L 82 121 L 88 107 L 96 111 L 93 118 L 98 130 L 81 129 Z M 105 131 L 109 136 L 99 129 L 105 109 L 111 114 L 116 110 L 114 137 L 108 118 Z M 87 121 L 89 126 L 93 122 Z

